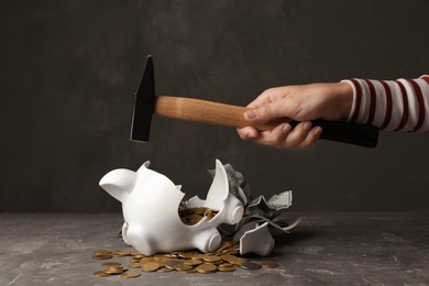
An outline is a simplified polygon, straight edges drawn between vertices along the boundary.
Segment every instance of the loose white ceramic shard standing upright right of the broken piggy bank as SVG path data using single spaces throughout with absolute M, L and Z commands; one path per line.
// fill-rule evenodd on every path
M 234 235 L 234 239 L 240 238 L 240 254 L 270 255 L 274 248 L 274 239 L 268 231 L 268 222 L 264 222 L 261 226 L 250 222 L 244 224 L 243 228 Z

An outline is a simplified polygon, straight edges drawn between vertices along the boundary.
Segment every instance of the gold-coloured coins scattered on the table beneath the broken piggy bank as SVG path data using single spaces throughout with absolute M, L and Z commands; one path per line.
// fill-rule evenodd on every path
M 233 272 L 237 268 L 260 270 L 274 268 L 278 264 L 275 262 L 252 262 L 240 257 L 235 246 L 231 242 L 222 242 L 213 253 L 201 253 L 199 251 L 172 252 L 166 254 L 155 254 L 146 256 L 134 250 L 121 250 L 112 253 L 110 250 L 97 250 L 94 252 L 95 260 L 110 260 L 112 257 L 129 257 L 128 268 L 141 270 L 142 272 L 178 272 L 178 273 L 202 273 Z M 140 273 L 129 271 L 119 262 L 106 262 L 102 264 L 103 271 L 94 273 L 94 276 L 106 277 L 110 275 L 121 275 L 123 278 L 139 277 Z

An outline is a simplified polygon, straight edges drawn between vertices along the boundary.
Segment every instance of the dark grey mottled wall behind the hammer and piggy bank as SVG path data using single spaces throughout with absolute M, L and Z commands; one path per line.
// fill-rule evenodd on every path
M 295 211 L 429 210 L 428 134 L 276 150 L 154 118 L 151 143 L 128 140 L 147 54 L 157 94 L 241 106 L 274 86 L 418 77 L 429 73 L 427 0 L 0 4 L 0 211 L 120 211 L 99 179 L 147 160 L 204 198 L 216 158 L 255 196 L 293 189 Z

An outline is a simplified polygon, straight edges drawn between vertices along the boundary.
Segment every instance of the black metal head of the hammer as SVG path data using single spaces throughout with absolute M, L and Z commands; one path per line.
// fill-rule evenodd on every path
M 155 109 L 155 76 L 152 56 L 146 57 L 146 65 L 135 92 L 130 140 L 147 142 L 151 132 L 152 114 Z

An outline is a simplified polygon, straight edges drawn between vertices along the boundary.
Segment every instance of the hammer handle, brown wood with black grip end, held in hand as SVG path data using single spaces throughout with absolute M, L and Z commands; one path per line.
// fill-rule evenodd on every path
M 156 97 L 154 113 L 161 117 L 244 128 L 251 125 L 244 119 L 244 112 L 250 108 L 230 106 L 207 100 L 180 98 L 180 97 Z M 280 118 L 263 125 L 254 127 L 258 131 L 272 130 L 280 123 L 288 122 L 295 127 L 299 122 Z M 369 124 L 355 124 L 342 121 L 312 120 L 312 125 L 322 128 L 320 139 L 350 143 L 354 145 L 375 147 L 378 140 L 378 128 Z

